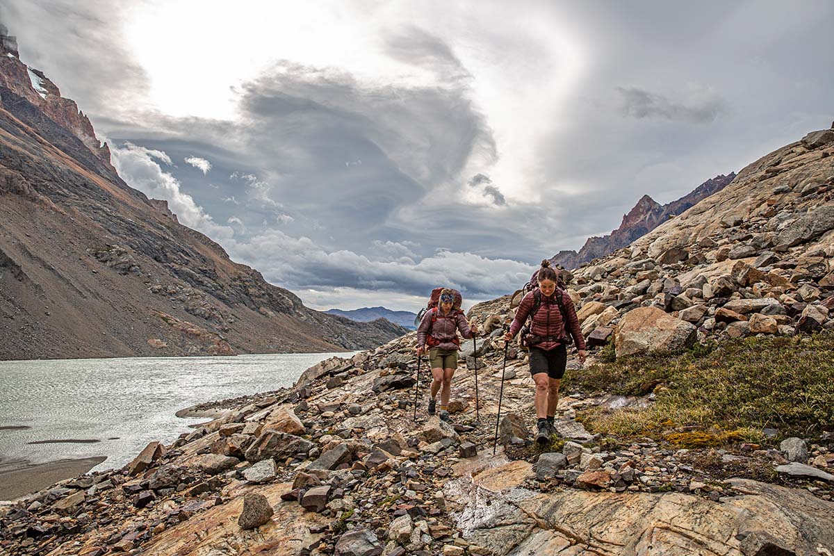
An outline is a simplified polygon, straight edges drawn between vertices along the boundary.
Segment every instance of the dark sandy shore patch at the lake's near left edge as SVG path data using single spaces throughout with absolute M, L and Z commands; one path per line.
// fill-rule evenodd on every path
M 50 487 L 58 481 L 77 477 L 105 459 L 105 456 L 96 456 L 34 465 L 21 461 L 0 464 L 0 500 L 13 500 Z

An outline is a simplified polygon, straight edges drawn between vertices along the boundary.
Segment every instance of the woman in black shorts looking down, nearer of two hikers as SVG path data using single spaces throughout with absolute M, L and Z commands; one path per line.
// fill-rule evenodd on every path
M 530 332 L 521 340 L 530 348 L 530 374 L 535 382 L 538 428 L 535 440 L 540 444 L 548 443 L 550 434 L 555 432 L 559 383 L 565 375 L 570 336 L 573 336 L 576 348 L 579 349 L 580 363 L 585 363 L 585 338 L 582 337 L 579 319 L 576 318 L 576 308 L 567 292 L 556 287 L 559 281 L 557 273 L 557 270 L 550 268 L 549 260 L 541 262 L 537 273 L 538 288 L 534 288 L 521 300 L 515 319 L 510 324 L 510 332 L 504 335 L 504 339 L 509 342 L 521 330 L 527 318 L 531 318 Z

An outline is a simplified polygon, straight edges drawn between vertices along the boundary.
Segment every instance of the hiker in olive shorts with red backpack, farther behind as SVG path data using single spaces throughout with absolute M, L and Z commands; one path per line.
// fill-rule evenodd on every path
M 417 347 L 414 350 L 417 357 L 426 351 L 429 352 L 432 377 L 429 414 L 435 414 L 437 393 L 440 392 L 439 417 L 444 421 L 449 421 L 452 375 L 458 368 L 458 330 L 467 339 L 474 338 L 478 333 L 477 325 L 473 324 L 470 327 L 464 312 L 460 307 L 455 307 L 455 293 L 450 289 L 443 289 L 437 307 L 426 311 L 420 321 L 420 327 L 417 328 Z

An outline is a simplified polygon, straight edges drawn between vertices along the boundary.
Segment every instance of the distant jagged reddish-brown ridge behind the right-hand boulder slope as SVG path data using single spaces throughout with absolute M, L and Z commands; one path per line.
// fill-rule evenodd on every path
M 644 195 L 637 201 L 634 208 L 623 216 L 620 228 L 615 229 L 607 236 L 588 238 L 578 253 L 573 250 L 560 251 L 553 258 L 550 258 L 550 261 L 563 268 L 578 268 L 584 263 L 590 263 L 594 258 L 605 257 L 605 255 L 624 248 L 637 238 L 651 232 L 669 218 L 683 213 L 701 199 L 726 188 L 734 178 L 736 178 L 736 173 L 731 172 L 726 176 L 722 174 L 708 179 L 684 197 L 665 205 L 661 205 L 648 195 Z

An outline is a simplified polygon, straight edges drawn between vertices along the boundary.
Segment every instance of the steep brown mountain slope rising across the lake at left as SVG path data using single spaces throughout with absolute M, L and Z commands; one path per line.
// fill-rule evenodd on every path
M 339 351 L 405 332 L 304 307 L 128 187 L 0 32 L 0 359 Z

